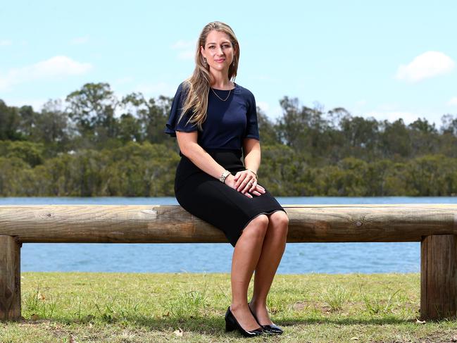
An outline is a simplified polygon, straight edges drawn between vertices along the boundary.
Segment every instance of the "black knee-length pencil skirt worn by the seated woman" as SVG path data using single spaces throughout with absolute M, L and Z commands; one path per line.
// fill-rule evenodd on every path
M 232 175 L 244 170 L 242 151 L 230 149 L 207 149 L 215 161 Z M 262 185 L 263 186 L 263 185 Z M 178 203 L 189 213 L 218 227 L 234 247 L 244 227 L 260 214 L 284 211 L 284 208 L 265 189 L 252 199 L 215 177 L 206 174 L 186 156 L 176 168 L 175 196 Z

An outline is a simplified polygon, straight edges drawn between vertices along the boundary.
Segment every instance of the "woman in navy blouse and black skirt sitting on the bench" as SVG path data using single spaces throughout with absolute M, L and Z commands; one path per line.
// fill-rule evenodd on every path
M 165 132 L 177 137 L 180 148 L 177 201 L 223 230 L 234 247 L 226 330 L 253 337 L 282 333 L 268 316 L 266 299 L 285 249 L 289 220 L 257 183 L 261 148 L 256 102 L 248 89 L 234 83 L 238 61 L 239 44 L 230 26 L 206 25 L 194 73 L 177 89 Z

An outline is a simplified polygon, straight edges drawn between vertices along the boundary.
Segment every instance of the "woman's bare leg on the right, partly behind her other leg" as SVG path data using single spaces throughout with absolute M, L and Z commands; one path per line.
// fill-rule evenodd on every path
M 261 325 L 272 324 L 266 308 L 267 295 L 286 247 L 288 226 L 289 218 L 284 211 L 268 215 L 268 229 L 256 266 L 253 296 L 249 303 Z

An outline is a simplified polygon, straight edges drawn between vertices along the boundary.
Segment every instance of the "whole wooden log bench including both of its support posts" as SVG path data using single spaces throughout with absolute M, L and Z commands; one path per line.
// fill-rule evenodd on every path
M 421 242 L 420 316 L 457 309 L 457 204 L 285 205 L 287 242 Z M 20 318 L 23 243 L 216 243 L 180 206 L 0 206 L 0 320 Z M 401 256 L 399 256 L 401 258 Z

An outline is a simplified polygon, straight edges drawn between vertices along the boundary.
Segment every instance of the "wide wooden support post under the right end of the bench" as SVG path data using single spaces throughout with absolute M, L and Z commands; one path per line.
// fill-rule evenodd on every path
M 457 236 L 432 235 L 420 243 L 420 317 L 453 318 L 457 311 Z

